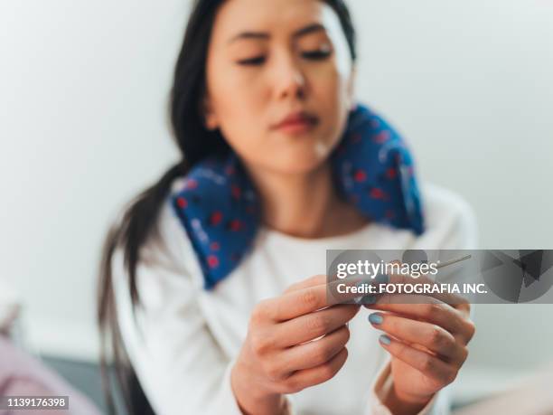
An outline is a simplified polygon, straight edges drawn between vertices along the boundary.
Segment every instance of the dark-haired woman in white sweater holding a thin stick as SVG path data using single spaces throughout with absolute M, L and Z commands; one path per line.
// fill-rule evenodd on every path
M 377 301 L 366 307 L 380 310 L 379 337 L 360 306 L 328 303 L 316 275 L 327 249 L 474 243 L 460 198 L 428 185 L 417 198 L 408 153 L 382 173 L 390 192 L 410 183 L 408 193 L 371 188 L 368 210 L 344 197 L 351 183 L 340 190 L 336 165 L 375 156 L 351 150 L 370 131 L 342 138 L 355 117 L 382 128 L 374 146 L 396 137 L 356 105 L 355 60 L 340 0 L 195 3 L 172 90 L 182 162 L 127 209 L 102 268 L 100 324 L 116 348 L 121 337 L 156 413 L 440 410 L 474 332 L 469 307 Z M 346 175 L 362 183 L 364 167 Z

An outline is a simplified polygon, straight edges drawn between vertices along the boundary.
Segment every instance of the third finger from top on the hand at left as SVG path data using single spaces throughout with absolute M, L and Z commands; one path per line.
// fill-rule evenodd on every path
M 330 361 L 339 354 L 350 339 L 350 330 L 345 325 L 324 335 L 318 340 L 299 344 L 279 354 L 277 365 L 284 367 L 285 373 L 309 369 Z

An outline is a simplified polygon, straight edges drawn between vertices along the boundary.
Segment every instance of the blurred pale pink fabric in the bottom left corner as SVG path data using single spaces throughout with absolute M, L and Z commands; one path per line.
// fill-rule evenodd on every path
M 69 410 L 0 410 L 0 415 L 99 415 L 79 391 L 0 335 L 0 396 L 69 396 Z

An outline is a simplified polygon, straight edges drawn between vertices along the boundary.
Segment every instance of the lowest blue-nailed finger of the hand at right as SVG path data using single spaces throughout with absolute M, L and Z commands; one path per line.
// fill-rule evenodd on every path
M 436 387 L 444 386 L 455 380 L 457 368 L 436 356 L 417 350 L 389 335 L 380 336 L 380 345 L 401 362 L 407 363 L 436 382 Z

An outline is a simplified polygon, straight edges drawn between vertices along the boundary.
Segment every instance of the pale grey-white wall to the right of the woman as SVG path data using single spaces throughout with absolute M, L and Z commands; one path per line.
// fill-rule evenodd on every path
M 473 205 L 482 248 L 553 249 L 553 2 L 351 5 L 360 96 L 409 137 L 423 178 Z M 476 307 L 467 365 L 522 371 L 553 359 L 552 314 Z

